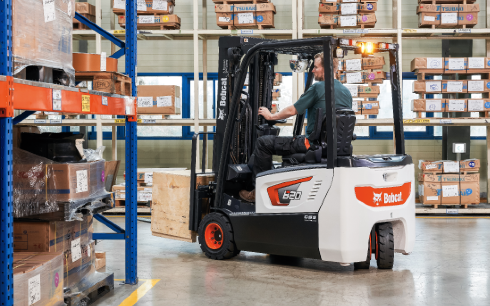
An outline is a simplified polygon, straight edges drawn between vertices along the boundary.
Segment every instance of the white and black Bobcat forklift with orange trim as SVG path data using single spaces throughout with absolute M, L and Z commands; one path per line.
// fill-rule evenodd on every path
M 317 112 L 311 147 L 283 156 L 254 182 L 257 138 L 278 135 L 276 124 L 285 123 L 258 115 L 260 107 L 271 107 L 278 54 L 296 55 L 292 69 L 309 71 L 306 92 L 319 52 L 324 54 L 326 105 L 325 113 Z M 352 154 L 356 119 L 352 110 L 335 108 L 333 69 L 333 58 L 349 52 L 363 57 L 389 53 L 396 154 Z M 404 148 L 398 45 L 333 37 L 221 37 L 219 60 L 216 133 L 196 133 L 192 148 L 189 229 L 198 233 L 205 255 L 231 259 L 242 250 L 368 269 L 374 253 L 378 268 L 391 269 L 395 252 L 409 254 L 415 241 L 415 177 Z M 296 115 L 294 136 L 301 135 L 303 121 Z M 215 182 L 196 187 L 196 176 L 203 174 L 196 173 L 197 141 L 202 138 L 205 169 L 209 134 L 214 134 Z M 239 191 L 254 187 L 255 203 L 241 201 Z

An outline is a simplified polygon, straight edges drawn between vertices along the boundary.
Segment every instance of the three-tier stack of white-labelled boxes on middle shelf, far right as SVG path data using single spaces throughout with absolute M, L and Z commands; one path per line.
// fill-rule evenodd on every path
M 417 118 L 422 117 L 423 112 L 479 112 L 480 117 L 489 116 L 490 58 L 420 57 L 412 60 L 411 69 L 417 74 L 413 92 L 419 94 L 419 99 L 412 101 L 412 111 L 417 112 Z M 442 76 L 449 76 L 449 79 L 442 80 Z M 472 79 L 472 76 L 480 79 Z M 458 79 L 460 77 L 463 79 Z M 442 94 L 443 98 L 426 98 L 426 94 Z M 481 97 L 467 99 L 460 98 L 460 94 Z

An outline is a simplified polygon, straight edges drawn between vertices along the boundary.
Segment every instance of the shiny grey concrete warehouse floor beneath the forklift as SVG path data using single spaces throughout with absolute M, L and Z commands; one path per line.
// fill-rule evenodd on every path
M 94 227 L 105 231 L 98 222 Z M 378 270 L 374 259 L 369 270 L 353 271 L 250 252 L 210 260 L 199 244 L 152 236 L 144 222 L 138 222 L 138 237 L 139 278 L 161 279 L 138 306 L 490 305 L 489 218 L 417 218 L 415 251 L 395 254 L 393 270 Z M 123 279 L 124 242 L 105 240 L 96 250 L 107 252 L 106 271 Z M 94 305 L 117 306 L 137 287 L 117 284 Z

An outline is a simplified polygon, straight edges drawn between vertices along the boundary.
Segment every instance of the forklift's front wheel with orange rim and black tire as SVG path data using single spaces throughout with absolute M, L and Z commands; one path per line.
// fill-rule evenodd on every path
M 230 221 L 219 212 L 205 215 L 198 233 L 201 250 L 209 259 L 231 259 L 240 253 L 233 239 Z

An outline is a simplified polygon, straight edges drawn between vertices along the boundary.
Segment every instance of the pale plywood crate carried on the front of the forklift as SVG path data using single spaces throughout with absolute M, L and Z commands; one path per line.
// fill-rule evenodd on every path
M 208 185 L 214 174 L 197 176 L 196 185 Z M 189 230 L 191 170 L 153 172 L 151 234 L 196 242 Z

